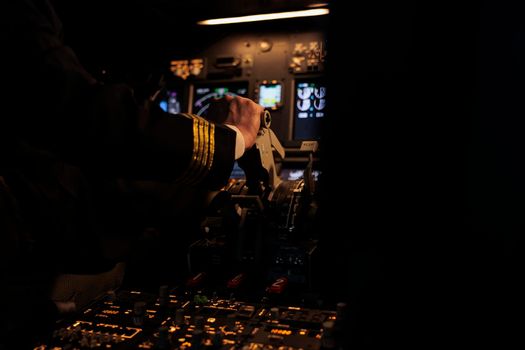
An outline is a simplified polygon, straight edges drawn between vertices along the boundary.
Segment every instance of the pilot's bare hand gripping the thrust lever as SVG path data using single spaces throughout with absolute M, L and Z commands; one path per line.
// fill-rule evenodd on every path
M 226 95 L 225 99 L 230 107 L 224 124 L 237 127 L 244 137 L 245 149 L 251 148 L 257 138 L 264 108 L 245 97 Z

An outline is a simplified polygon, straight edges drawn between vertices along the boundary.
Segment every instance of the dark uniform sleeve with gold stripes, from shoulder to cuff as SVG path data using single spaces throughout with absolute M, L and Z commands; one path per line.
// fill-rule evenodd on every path
M 2 38 L 2 72 L 12 87 L 8 103 L 22 108 L 2 121 L 3 136 L 109 176 L 210 189 L 227 182 L 233 130 L 154 105 L 140 108 L 129 87 L 102 85 L 86 72 L 62 42 L 46 1 L 13 3 L 7 25 L 15 35 Z M 16 10 L 25 16 L 17 19 Z

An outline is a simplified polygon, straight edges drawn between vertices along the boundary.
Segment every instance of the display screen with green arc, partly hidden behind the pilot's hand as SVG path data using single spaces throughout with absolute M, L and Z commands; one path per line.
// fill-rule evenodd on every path
M 199 84 L 193 88 L 193 102 L 192 110 L 193 114 L 206 116 L 206 112 L 210 107 L 210 102 L 214 98 L 221 98 L 225 95 L 231 96 L 243 96 L 248 95 L 248 82 L 228 82 L 228 83 L 213 83 L 213 84 Z

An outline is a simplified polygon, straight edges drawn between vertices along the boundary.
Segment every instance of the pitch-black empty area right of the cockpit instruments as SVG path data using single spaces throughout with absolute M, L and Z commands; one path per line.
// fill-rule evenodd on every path
M 340 80 L 354 89 L 349 115 L 332 111 L 324 193 L 332 232 L 347 237 L 328 242 L 347 266 L 353 339 L 510 342 L 522 303 L 523 6 L 336 5 L 332 98 Z M 342 162 L 355 169 L 346 180 Z

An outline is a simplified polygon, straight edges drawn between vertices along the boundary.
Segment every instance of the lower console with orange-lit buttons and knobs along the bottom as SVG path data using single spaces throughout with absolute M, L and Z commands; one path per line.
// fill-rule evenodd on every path
M 110 292 L 57 323 L 46 349 L 330 349 L 341 310 L 250 303 L 188 288 Z

